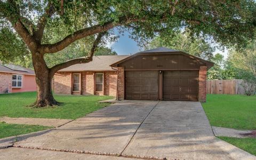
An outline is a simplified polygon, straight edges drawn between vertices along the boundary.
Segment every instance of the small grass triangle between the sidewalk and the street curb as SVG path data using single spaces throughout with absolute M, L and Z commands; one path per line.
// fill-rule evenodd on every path
M 0 138 L 50 129 L 49 126 L 0 123 Z

